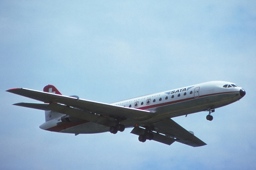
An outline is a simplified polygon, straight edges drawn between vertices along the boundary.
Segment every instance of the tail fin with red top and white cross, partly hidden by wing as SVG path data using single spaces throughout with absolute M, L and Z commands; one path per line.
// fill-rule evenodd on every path
M 54 85 L 46 85 L 44 87 L 44 92 L 62 95 L 62 93 L 60 93 L 59 90 Z M 57 113 L 54 111 L 44 111 L 44 114 L 45 114 L 45 122 L 47 122 L 51 119 L 56 119 L 56 118 L 63 116 L 63 114 Z

